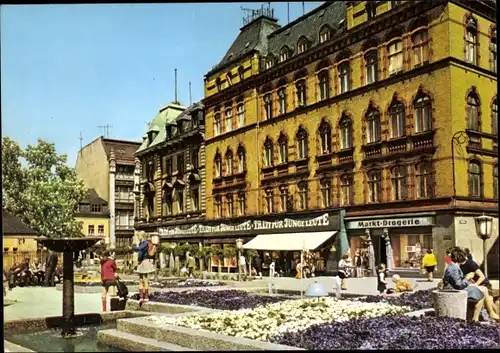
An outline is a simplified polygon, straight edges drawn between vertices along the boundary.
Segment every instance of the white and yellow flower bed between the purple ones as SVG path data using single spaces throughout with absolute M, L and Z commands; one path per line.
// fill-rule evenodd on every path
M 363 303 L 359 301 L 336 300 L 333 298 L 295 299 L 280 303 L 261 305 L 253 310 L 223 311 L 210 315 L 165 317 L 153 316 L 148 320 L 194 329 L 266 341 L 274 336 L 281 337 L 309 326 L 364 317 L 394 315 L 411 311 L 387 303 Z M 293 342 L 297 346 L 299 341 Z M 290 345 L 289 343 L 286 343 Z

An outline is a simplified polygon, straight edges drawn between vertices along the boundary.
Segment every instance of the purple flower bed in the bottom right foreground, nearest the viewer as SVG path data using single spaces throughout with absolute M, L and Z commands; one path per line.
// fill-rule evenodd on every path
M 500 328 L 453 318 L 392 316 L 313 325 L 270 341 L 308 350 L 484 349 L 500 348 Z

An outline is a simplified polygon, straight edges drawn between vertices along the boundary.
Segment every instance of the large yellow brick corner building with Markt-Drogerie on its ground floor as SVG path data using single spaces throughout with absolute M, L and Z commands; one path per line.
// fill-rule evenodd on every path
M 350 248 L 419 267 L 494 216 L 493 1 L 327 2 L 280 27 L 262 10 L 205 77 L 207 222 L 345 210 Z

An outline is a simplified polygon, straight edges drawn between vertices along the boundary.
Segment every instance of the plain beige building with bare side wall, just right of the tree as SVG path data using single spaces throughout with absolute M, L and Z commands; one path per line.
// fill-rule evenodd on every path
M 109 210 L 107 234 L 109 234 L 111 248 L 132 245 L 134 153 L 139 146 L 139 142 L 114 140 L 101 136 L 83 147 L 76 160 L 75 170 L 78 177 L 107 202 Z M 97 229 L 95 231 L 97 233 Z

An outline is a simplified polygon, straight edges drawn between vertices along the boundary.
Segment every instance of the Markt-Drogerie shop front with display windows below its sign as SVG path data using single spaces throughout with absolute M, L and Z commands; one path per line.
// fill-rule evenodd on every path
M 427 249 L 435 249 L 433 215 L 346 217 L 345 221 L 351 256 L 356 250 L 367 258 L 371 255 L 372 274 L 380 263 L 391 271 L 419 271 Z

